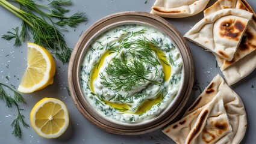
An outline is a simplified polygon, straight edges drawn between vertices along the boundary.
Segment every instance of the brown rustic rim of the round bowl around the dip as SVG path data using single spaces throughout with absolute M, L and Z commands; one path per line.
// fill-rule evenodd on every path
M 166 27 L 168 32 L 172 32 L 175 36 L 176 39 L 173 40 L 172 37 L 170 37 L 170 35 L 168 35 L 166 32 L 164 32 L 162 29 L 158 29 L 157 26 L 153 25 L 152 23 L 146 23 L 143 22 L 142 20 L 137 20 L 135 22 L 131 21 L 131 20 L 120 20 L 118 22 L 111 22 L 111 19 L 122 19 L 122 17 L 131 17 L 131 19 L 133 19 L 133 17 L 143 17 L 145 19 L 148 20 L 153 20 L 155 22 L 159 22 L 161 25 L 163 25 L 164 27 Z M 106 22 L 109 22 L 111 25 L 107 25 Z M 163 112 L 165 115 L 167 116 L 162 116 L 163 118 L 160 122 L 157 122 L 153 125 L 149 125 L 148 122 L 145 122 L 143 124 L 133 124 L 133 125 L 113 125 L 111 123 L 113 123 L 113 121 L 107 121 L 102 122 L 100 119 L 105 119 L 103 118 L 103 116 L 99 115 L 97 112 L 94 112 L 92 114 L 92 108 L 91 110 L 86 109 L 86 105 L 85 105 L 85 101 L 86 99 L 83 97 L 83 92 L 81 91 L 80 88 L 80 80 L 79 80 L 79 76 L 80 76 L 80 64 L 83 61 L 84 55 L 87 52 L 86 46 L 87 44 L 89 44 L 93 38 L 95 38 L 96 35 L 101 34 L 102 31 L 105 30 L 105 28 L 111 28 L 111 26 L 116 26 L 118 25 L 118 23 L 122 23 L 124 25 L 124 23 L 126 22 L 134 22 L 134 23 L 145 23 L 145 25 L 148 26 L 152 26 L 153 28 L 158 29 L 159 31 L 164 32 L 172 41 L 173 43 L 175 43 L 177 49 L 180 51 L 182 58 L 183 58 L 183 67 L 187 67 L 187 71 L 189 70 L 189 73 L 185 73 L 185 68 L 183 68 L 183 75 L 185 74 L 189 74 L 189 76 L 183 76 L 183 85 L 181 85 L 183 88 L 180 88 L 180 95 L 178 95 L 179 97 L 183 96 L 182 98 L 180 98 L 181 100 L 178 101 L 177 95 L 175 97 L 175 101 L 178 101 L 178 106 L 177 104 L 171 104 L 172 106 L 170 107 L 175 107 L 174 110 L 171 110 L 172 113 L 168 113 L 168 110 L 163 110 Z M 107 26 L 104 26 L 103 28 L 101 28 L 103 25 L 102 23 L 105 23 Z M 96 30 L 95 30 L 96 29 Z M 96 31 L 95 33 L 90 34 L 90 32 Z M 91 35 L 89 36 L 89 38 L 87 38 L 87 35 Z M 179 44 L 177 44 L 177 41 L 179 42 Z M 180 45 L 180 46 L 178 46 Z M 181 48 L 183 47 L 183 53 L 181 52 Z M 184 56 L 185 55 L 185 56 Z M 185 77 L 187 77 L 185 79 Z M 105 131 L 108 131 L 110 133 L 116 133 L 116 134 L 129 134 L 129 135 L 133 135 L 133 134 L 143 134 L 143 133 L 148 133 L 154 130 L 157 130 L 158 128 L 163 127 L 164 125 L 168 124 L 170 121 L 172 121 L 183 109 L 183 107 L 185 106 L 185 104 L 187 103 L 187 100 L 189 99 L 190 96 L 190 92 L 192 91 L 192 87 L 193 87 L 193 81 L 195 77 L 195 69 L 194 69 L 194 65 L 193 65 L 193 59 L 192 59 L 192 55 L 190 52 L 189 47 L 186 44 L 186 41 L 184 40 L 184 38 L 181 36 L 180 32 L 178 32 L 178 30 L 176 30 L 172 25 L 170 25 L 170 23 L 168 23 L 166 20 L 164 20 L 163 18 L 156 16 L 154 14 L 150 14 L 150 13 L 146 13 L 146 12 L 142 12 L 142 11 L 125 11 L 125 12 L 121 12 L 121 13 L 116 13 L 116 14 L 111 14 L 109 16 L 106 16 L 100 20 L 98 20 L 97 22 L 95 22 L 92 26 L 90 26 L 84 33 L 83 35 L 81 35 L 80 39 L 78 40 L 78 43 L 76 43 L 75 48 L 73 49 L 72 55 L 70 57 L 70 62 L 69 62 L 69 69 L 68 69 L 68 83 L 69 83 L 69 89 L 70 89 L 70 95 L 76 105 L 76 107 L 78 108 L 78 110 L 80 111 L 80 113 L 86 118 L 88 119 L 90 122 L 92 122 L 93 124 L 97 125 L 98 127 L 102 128 Z M 186 88 L 184 90 L 184 87 Z M 82 97 L 81 97 L 82 95 Z M 82 98 L 82 99 L 81 99 Z M 87 102 L 86 102 L 87 103 Z M 171 102 L 173 103 L 173 101 Z M 169 107 L 169 106 L 168 106 Z M 167 111 L 167 112 L 166 112 Z M 173 113 L 175 112 L 175 113 Z M 98 115 L 98 116 L 95 116 Z M 162 114 L 160 114 L 162 115 Z M 171 116 L 170 116 L 171 115 Z M 159 117 L 159 116 L 158 116 Z M 161 117 L 160 117 L 161 118 Z M 106 120 L 106 119 L 105 119 Z M 110 124 L 109 124 L 110 122 Z M 140 127 L 138 127 L 140 126 Z

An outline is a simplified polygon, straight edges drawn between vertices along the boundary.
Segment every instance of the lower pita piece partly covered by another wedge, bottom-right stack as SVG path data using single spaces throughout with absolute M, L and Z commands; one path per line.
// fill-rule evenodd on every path
M 245 135 L 247 127 L 245 106 L 243 105 L 243 101 L 239 95 L 237 95 L 236 92 L 226 85 L 225 81 L 219 74 L 213 78 L 211 83 L 207 86 L 207 88 L 205 88 L 202 94 L 199 95 L 192 106 L 187 109 L 184 116 L 190 115 L 190 113 L 194 113 L 196 110 L 199 110 L 201 107 L 204 107 L 206 104 L 210 103 L 210 101 L 216 96 L 217 92 L 221 92 L 223 95 L 223 104 L 228 115 L 229 124 L 233 129 L 232 133 L 226 134 L 226 138 L 220 139 L 218 142 L 240 143 Z

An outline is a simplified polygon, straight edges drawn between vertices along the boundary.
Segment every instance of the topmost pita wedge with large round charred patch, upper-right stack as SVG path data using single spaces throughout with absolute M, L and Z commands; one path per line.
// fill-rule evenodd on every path
M 251 18 L 245 10 L 222 9 L 204 17 L 184 37 L 231 61 Z

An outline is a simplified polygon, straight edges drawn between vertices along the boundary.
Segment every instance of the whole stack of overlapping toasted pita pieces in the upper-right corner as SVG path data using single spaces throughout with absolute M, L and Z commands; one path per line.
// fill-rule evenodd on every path
M 256 67 L 256 14 L 245 0 L 219 0 L 184 37 L 213 52 L 228 85 Z

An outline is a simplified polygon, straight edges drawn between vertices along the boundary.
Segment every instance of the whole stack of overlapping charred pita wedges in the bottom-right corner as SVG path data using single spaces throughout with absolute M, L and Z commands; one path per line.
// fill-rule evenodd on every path
M 243 101 L 218 74 L 183 118 L 163 133 L 181 144 L 240 143 L 246 127 Z

